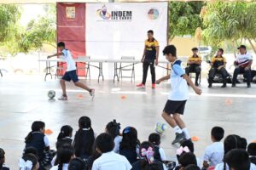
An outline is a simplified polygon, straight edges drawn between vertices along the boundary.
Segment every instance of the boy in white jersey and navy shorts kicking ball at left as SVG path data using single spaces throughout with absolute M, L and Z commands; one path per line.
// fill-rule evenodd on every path
M 77 67 L 76 63 L 73 60 L 72 54 L 70 51 L 65 48 L 65 43 L 64 42 L 59 42 L 58 43 L 58 49 L 61 51 L 60 53 L 49 55 L 47 59 L 54 57 L 54 56 L 59 56 L 62 55 L 64 56 L 64 59 L 67 62 L 67 71 L 65 72 L 64 76 L 61 78 L 61 89 L 62 89 L 62 96 L 59 98 L 60 100 L 67 100 L 67 92 L 66 92 L 66 84 L 65 81 L 70 82 L 71 80 L 73 81 L 74 85 L 83 88 L 84 90 L 87 90 L 90 93 L 91 97 L 94 97 L 95 95 L 95 90 L 92 88 L 88 88 L 84 83 L 79 82 L 79 77 L 77 75 Z

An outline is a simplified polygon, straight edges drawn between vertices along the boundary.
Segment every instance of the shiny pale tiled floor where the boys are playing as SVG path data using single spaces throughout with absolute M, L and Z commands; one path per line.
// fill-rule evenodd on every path
M 82 81 L 84 82 L 84 81 Z M 113 119 L 121 127 L 137 127 L 139 139 L 148 139 L 154 131 L 155 122 L 163 122 L 160 114 L 166 104 L 169 84 L 163 83 L 156 89 L 137 89 L 131 82 L 112 81 L 87 82 L 96 88 L 96 98 L 67 84 L 68 101 L 49 100 L 47 92 L 55 90 L 61 95 L 58 81 L 44 82 L 41 77 L 0 77 L 0 147 L 6 151 L 6 163 L 17 169 L 18 160 L 25 146 L 24 138 L 33 121 L 42 120 L 46 128 L 54 133 L 49 135 L 52 148 L 62 125 L 78 129 L 79 116 L 90 116 L 96 133 L 102 133 L 106 124 Z M 256 85 L 246 88 L 212 89 L 202 85 L 203 94 L 196 96 L 190 89 L 191 97 L 183 116 L 192 136 L 199 137 L 195 143 L 195 154 L 201 157 L 205 147 L 211 144 L 210 131 L 213 126 L 221 126 L 225 134 L 236 133 L 248 142 L 256 139 Z M 56 96 L 56 97 L 57 97 Z M 172 146 L 172 129 L 162 137 L 162 147 L 168 157 L 175 156 L 177 146 Z

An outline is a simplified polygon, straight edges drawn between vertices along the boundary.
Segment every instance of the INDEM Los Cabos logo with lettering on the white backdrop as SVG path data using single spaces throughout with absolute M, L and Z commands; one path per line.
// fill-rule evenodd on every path
M 103 20 L 131 20 L 132 11 L 108 11 L 106 5 L 96 11 Z

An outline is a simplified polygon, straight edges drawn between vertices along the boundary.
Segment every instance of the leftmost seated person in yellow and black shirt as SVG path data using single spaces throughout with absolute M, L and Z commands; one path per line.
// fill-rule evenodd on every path
M 198 78 L 201 74 L 201 56 L 199 56 L 198 48 L 192 48 L 193 55 L 189 57 L 188 66 L 186 67 L 186 74 L 189 76 L 190 72 L 195 72 L 195 86 L 198 86 Z

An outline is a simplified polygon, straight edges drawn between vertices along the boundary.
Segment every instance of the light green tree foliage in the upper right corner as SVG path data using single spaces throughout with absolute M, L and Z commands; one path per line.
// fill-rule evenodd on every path
M 241 40 L 246 39 L 256 53 L 253 45 L 256 40 L 256 3 L 207 3 L 202 18 L 205 27 L 202 35 L 207 44 L 219 47 L 230 41 L 235 50 Z

